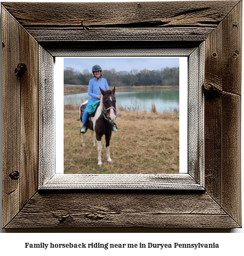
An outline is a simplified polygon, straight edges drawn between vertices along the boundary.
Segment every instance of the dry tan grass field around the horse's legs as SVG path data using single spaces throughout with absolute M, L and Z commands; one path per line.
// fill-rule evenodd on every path
M 118 111 L 118 132 L 110 141 L 112 163 L 103 149 L 101 168 L 89 130 L 86 147 L 81 145 L 78 115 L 77 110 L 64 111 L 64 173 L 179 173 L 179 113 Z

